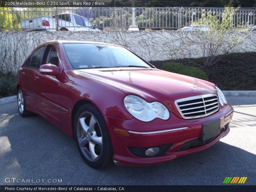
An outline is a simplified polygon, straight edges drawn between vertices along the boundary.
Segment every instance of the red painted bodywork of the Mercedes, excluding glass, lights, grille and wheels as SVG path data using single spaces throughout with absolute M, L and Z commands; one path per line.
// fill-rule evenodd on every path
M 60 72 L 58 76 L 42 75 L 39 70 L 24 67 L 28 58 L 18 71 L 17 86 L 22 87 L 27 108 L 73 136 L 73 117 L 76 105 L 91 102 L 101 112 L 108 127 L 114 150 L 113 159 L 117 164 L 149 165 L 172 160 L 211 147 L 226 136 L 224 130 L 233 116 L 229 104 L 219 105 L 212 115 L 183 119 L 175 106 L 175 100 L 191 96 L 217 93 L 215 85 L 193 77 L 169 73 L 155 68 L 98 68 L 72 70 L 65 56 L 62 43 L 51 41 L 43 45 L 53 45 L 58 52 Z M 37 47 L 38 48 L 38 47 Z M 36 48 L 36 49 L 37 49 Z M 35 49 L 35 50 L 36 50 Z M 198 87 L 193 87 L 193 80 Z M 170 118 L 159 118 L 142 122 L 134 118 L 124 107 L 123 99 L 127 94 L 137 95 L 148 102 L 159 101 L 170 111 Z M 220 119 L 223 132 L 212 142 L 200 147 L 177 152 L 185 142 L 200 137 L 202 124 Z M 153 133 L 135 134 L 134 132 L 154 132 L 181 127 L 186 129 Z M 129 137 L 117 135 L 113 129 L 129 132 Z M 134 156 L 127 147 L 154 147 L 172 143 L 172 147 L 159 157 L 140 158 Z

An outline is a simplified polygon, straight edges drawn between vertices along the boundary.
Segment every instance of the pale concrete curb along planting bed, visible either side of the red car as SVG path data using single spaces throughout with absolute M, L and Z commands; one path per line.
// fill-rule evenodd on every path
M 256 96 L 256 91 L 222 91 L 225 96 Z M 11 103 L 17 100 L 17 96 L 3 97 L 0 99 L 0 105 Z

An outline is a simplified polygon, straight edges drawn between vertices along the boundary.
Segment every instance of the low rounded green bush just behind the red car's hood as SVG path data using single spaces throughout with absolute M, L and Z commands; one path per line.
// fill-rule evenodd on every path
M 178 73 L 181 75 L 196 77 L 198 79 L 208 81 L 208 75 L 203 70 L 196 67 L 190 67 L 174 62 L 166 62 L 164 63 L 162 69 L 172 73 Z

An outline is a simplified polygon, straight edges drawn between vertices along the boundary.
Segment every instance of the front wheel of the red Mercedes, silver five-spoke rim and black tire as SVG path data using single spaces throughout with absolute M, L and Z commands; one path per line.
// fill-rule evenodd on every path
M 75 117 L 74 136 L 85 163 L 95 169 L 104 168 L 113 160 L 108 128 L 100 111 L 91 103 L 82 105 Z

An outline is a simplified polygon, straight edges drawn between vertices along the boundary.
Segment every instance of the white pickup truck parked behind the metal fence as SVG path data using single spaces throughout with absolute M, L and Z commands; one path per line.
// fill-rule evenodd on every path
M 100 31 L 91 21 L 75 13 L 65 12 L 58 16 L 60 31 Z M 21 21 L 22 31 L 56 31 L 56 27 L 56 16 L 42 16 Z

